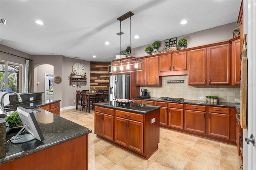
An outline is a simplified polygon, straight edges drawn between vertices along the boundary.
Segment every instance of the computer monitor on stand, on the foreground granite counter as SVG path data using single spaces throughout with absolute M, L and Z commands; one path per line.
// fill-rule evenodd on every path
M 23 128 L 13 136 L 11 142 L 12 143 L 24 143 L 28 142 L 30 140 L 34 140 L 37 138 L 40 141 L 44 140 L 44 136 L 42 134 L 42 131 L 40 127 L 38 126 L 38 123 L 36 121 L 35 115 L 33 112 L 30 112 L 29 110 L 23 108 L 23 107 L 17 107 L 17 112 L 20 116 L 20 119 L 23 123 Z M 24 128 L 30 132 L 30 134 L 22 134 L 20 133 L 24 130 Z

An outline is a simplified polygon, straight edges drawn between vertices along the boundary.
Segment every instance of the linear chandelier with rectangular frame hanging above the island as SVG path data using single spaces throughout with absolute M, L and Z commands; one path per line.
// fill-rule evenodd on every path
M 121 33 L 121 22 L 130 17 L 130 50 L 129 57 L 127 59 L 121 60 L 121 34 L 120 36 L 120 53 L 119 59 L 120 61 L 114 61 L 111 65 L 108 66 L 109 73 L 128 73 L 134 71 L 143 71 L 143 62 L 141 61 L 141 57 L 139 59 L 131 57 L 131 16 L 134 14 L 132 12 L 127 12 L 126 14 L 117 18 L 120 21 L 120 33 Z

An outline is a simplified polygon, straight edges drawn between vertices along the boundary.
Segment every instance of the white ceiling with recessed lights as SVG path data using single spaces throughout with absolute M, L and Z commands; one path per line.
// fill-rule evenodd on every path
M 120 51 L 117 18 L 126 12 L 134 13 L 134 48 L 236 22 L 240 4 L 241 0 L 0 0 L 0 18 L 7 20 L 0 24 L 0 43 L 31 55 L 110 61 Z M 184 19 L 188 24 L 181 25 Z M 121 50 L 130 44 L 129 24 L 129 19 L 121 24 Z

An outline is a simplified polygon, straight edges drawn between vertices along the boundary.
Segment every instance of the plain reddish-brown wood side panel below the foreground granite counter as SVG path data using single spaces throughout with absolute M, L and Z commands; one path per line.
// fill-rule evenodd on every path
M 0 166 L 1 170 L 88 170 L 88 134 L 24 156 Z

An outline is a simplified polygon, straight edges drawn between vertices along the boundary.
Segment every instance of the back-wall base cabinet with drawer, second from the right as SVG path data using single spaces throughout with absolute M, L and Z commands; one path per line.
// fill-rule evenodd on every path
M 185 130 L 206 134 L 206 107 L 186 105 Z

